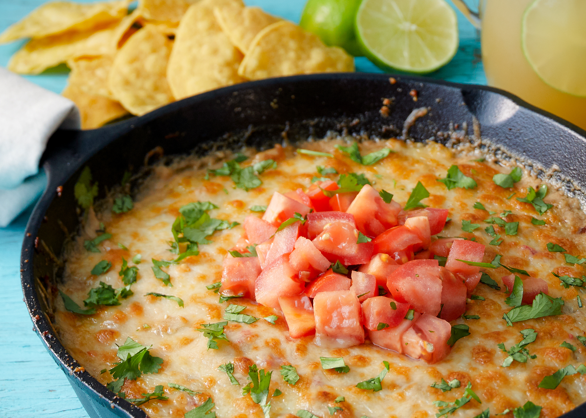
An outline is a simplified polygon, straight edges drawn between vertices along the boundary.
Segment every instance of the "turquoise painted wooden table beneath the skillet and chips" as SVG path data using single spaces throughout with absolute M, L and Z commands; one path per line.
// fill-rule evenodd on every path
M 21 19 L 43 0 L 0 0 L 0 32 Z M 248 0 L 248 5 L 299 22 L 305 0 Z M 480 42 L 476 30 L 458 13 L 460 46 L 454 59 L 431 78 L 456 83 L 486 84 L 480 59 Z M 0 45 L 0 66 L 24 42 Z M 381 71 L 364 58 L 356 59 L 356 70 Z M 66 73 L 46 71 L 27 76 L 33 83 L 59 93 L 66 84 Z M 2 94 L 2 92 L 0 92 Z M 0 417 L 85 418 L 87 414 L 63 372 L 54 364 L 45 346 L 32 332 L 32 323 L 22 301 L 19 255 L 30 209 L 7 228 L 0 229 Z

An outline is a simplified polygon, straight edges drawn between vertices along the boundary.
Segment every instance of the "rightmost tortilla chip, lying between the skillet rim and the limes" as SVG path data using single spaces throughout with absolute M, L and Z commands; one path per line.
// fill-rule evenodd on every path
M 354 71 L 354 59 L 337 46 L 291 22 L 277 22 L 261 30 L 251 43 L 238 74 L 249 80 L 293 74 Z

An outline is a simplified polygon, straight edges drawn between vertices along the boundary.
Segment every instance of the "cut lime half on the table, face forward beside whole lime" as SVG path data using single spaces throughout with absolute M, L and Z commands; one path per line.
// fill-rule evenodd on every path
M 355 33 L 383 70 L 430 73 L 458 50 L 456 13 L 445 0 L 363 0 Z

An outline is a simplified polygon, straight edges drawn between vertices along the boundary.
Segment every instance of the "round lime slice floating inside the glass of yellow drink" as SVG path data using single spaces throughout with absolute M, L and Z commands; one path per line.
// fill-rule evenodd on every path
M 557 90 L 586 96 L 586 0 L 536 0 L 521 29 L 533 70 Z

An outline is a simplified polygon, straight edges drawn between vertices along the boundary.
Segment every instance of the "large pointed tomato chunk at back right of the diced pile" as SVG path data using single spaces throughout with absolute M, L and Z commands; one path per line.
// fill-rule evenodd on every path
M 367 237 L 376 237 L 397 225 L 397 214 L 400 211 L 401 206 L 396 201 L 384 203 L 379 192 L 370 184 L 362 186 L 346 210 L 347 213 L 354 215 L 356 227 Z

